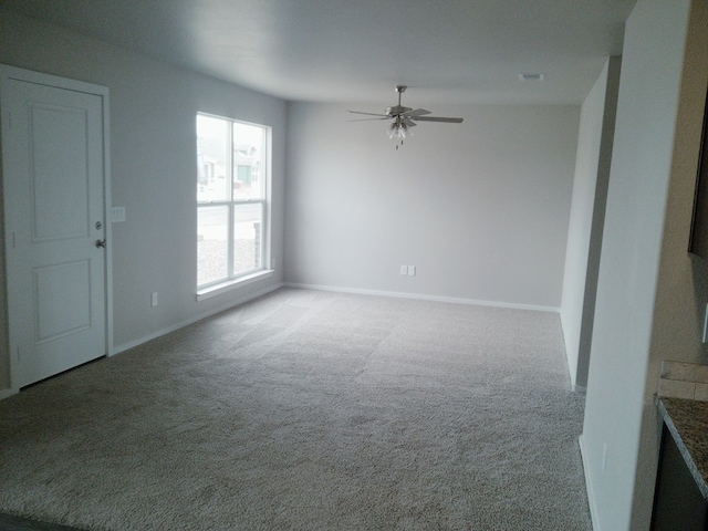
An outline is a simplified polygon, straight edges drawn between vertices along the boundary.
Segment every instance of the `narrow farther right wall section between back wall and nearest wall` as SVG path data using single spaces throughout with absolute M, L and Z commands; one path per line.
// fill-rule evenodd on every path
M 581 110 L 561 322 L 571 384 L 587 386 L 597 264 L 612 162 L 621 58 L 608 58 Z

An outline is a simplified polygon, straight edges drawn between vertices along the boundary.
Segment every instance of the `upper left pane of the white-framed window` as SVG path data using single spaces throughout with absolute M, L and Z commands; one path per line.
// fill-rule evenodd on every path
M 229 123 L 226 119 L 197 115 L 197 200 L 229 199 L 228 145 Z

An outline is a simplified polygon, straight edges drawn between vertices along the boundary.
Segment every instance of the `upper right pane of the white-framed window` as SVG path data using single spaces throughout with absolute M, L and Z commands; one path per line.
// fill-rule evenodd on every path
M 233 124 L 233 198 L 262 199 L 266 128 Z

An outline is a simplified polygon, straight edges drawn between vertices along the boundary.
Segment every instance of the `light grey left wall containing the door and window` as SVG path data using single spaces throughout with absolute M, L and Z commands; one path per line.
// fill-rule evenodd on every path
M 110 88 L 112 202 L 124 206 L 127 218 L 113 225 L 117 348 L 282 281 L 277 271 L 238 292 L 196 301 L 195 115 L 204 111 L 273 128 L 273 258 L 282 264 L 284 102 L 4 9 L 0 62 Z M 159 305 L 150 308 L 154 291 Z M 7 352 L 1 357 L 4 364 Z M 3 384 L 7 387 L 7 379 Z

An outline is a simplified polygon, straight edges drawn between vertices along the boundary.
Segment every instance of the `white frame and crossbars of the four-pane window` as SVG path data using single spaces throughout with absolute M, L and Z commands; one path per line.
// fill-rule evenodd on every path
M 198 116 L 206 116 L 209 118 L 222 119 L 229 124 L 228 127 L 228 137 L 227 137 L 227 166 L 228 170 L 227 175 L 227 198 L 223 200 L 208 200 L 200 201 L 197 199 L 197 214 L 199 208 L 209 208 L 209 207 L 227 207 L 228 209 L 228 221 L 227 221 L 227 278 L 215 280 L 212 282 L 208 282 L 201 285 L 197 285 L 197 300 L 201 301 L 205 299 L 209 299 L 215 295 L 219 295 L 227 291 L 233 290 L 238 287 L 242 287 L 252 282 L 257 282 L 259 280 L 272 277 L 273 270 L 269 268 L 270 264 L 270 253 L 271 253 L 271 232 L 270 232 L 270 201 L 271 201 L 271 160 L 272 160 L 272 128 L 262 125 L 256 124 L 251 122 L 244 122 L 240 119 L 229 118 L 226 116 L 219 116 L 209 113 L 197 113 Z M 262 187 L 263 194 L 261 198 L 258 199 L 239 199 L 233 197 L 233 124 L 243 124 L 250 125 L 254 127 L 260 127 L 263 129 L 264 138 L 263 138 L 263 156 L 261 158 L 261 165 L 259 167 L 260 178 L 263 179 Z M 196 127 L 195 127 L 196 131 Z M 197 155 L 197 149 L 195 145 L 195 155 Z M 198 163 L 197 163 L 198 164 Z M 235 273 L 233 272 L 233 262 L 235 262 L 235 249 L 233 249 L 233 221 L 235 221 L 235 211 L 239 206 L 246 205 L 261 205 L 261 235 L 260 235 L 260 267 L 254 268 L 252 270 Z M 197 243 L 198 244 L 198 243 Z M 198 268 L 198 266 L 197 266 Z

